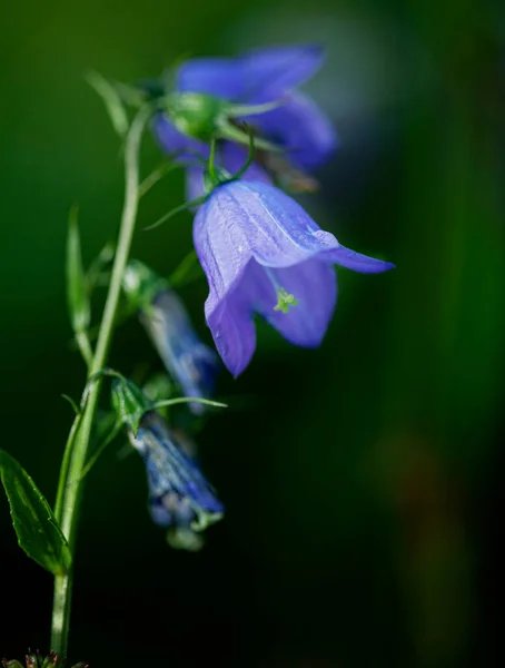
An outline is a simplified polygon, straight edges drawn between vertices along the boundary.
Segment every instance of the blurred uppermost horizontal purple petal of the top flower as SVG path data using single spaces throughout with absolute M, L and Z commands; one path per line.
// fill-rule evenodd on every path
M 311 45 L 257 49 L 237 59 L 196 58 L 179 67 L 177 88 L 241 102 L 266 101 L 304 84 L 323 60 L 323 50 Z

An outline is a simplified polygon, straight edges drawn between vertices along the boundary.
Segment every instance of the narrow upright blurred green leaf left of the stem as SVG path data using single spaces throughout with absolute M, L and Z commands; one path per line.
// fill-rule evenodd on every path
M 77 223 L 77 207 L 70 209 L 67 237 L 67 298 L 70 320 L 76 334 L 86 332 L 90 321 L 90 305 L 82 268 L 81 244 Z

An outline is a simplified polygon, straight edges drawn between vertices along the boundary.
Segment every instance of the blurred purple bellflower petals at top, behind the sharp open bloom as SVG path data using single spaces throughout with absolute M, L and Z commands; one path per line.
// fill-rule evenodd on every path
M 266 112 L 239 120 L 250 124 L 256 132 L 283 149 L 291 165 L 311 171 L 323 165 L 337 146 L 329 119 L 317 105 L 297 90 L 321 66 L 324 52 L 316 46 L 257 49 L 239 58 L 199 58 L 187 60 L 176 72 L 178 92 L 199 92 L 240 105 L 263 105 L 279 101 Z M 169 153 L 208 158 L 208 146 L 175 128 L 169 118 L 158 115 L 155 135 Z M 224 143 L 220 166 L 230 174 L 244 163 L 244 148 Z M 202 169 L 188 169 L 188 199 L 202 194 Z M 269 176 L 253 164 L 242 177 L 268 181 Z

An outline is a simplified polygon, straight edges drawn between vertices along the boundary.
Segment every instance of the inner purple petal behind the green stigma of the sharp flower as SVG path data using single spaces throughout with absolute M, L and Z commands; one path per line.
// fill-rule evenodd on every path
M 274 308 L 277 304 L 274 282 L 298 302 L 288 313 Z M 251 263 L 238 289 L 240 293 L 247 289 L 251 307 L 287 341 L 301 347 L 320 345 L 337 304 L 335 269 L 316 258 L 284 269 L 265 269 Z

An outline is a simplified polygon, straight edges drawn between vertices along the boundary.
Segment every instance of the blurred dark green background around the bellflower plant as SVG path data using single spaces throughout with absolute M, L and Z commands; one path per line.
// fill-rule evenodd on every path
M 344 244 L 397 265 L 340 272 L 317 352 L 260 326 L 249 370 L 222 375 L 224 395 L 254 402 L 199 436 L 227 507 L 200 553 L 171 551 L 149 521 L 140 459 L 119 461 L 117 446 L 103 455 L 86 494 L 71 658 L 92 668 L 499 665 L 504 39 L 503 6 L 472 0 L 4 8 L 1 446 L 48 499 L 71 422 L 60 394 L 78 396 L 85 380 L 69 346 L 67 213 L 79 203 L 90 261 L 113 237 L 122 197 L 118 140 L 87 68 L 136 81 L 180 53 L 321 42 L 327 65 L 307 90 L 341 148 L 304 204 Z M 150 138 L 145 148 L 147 168 L 159 155 Z M 181 197 L 178 174 L 142 203 L 140 225 Z M 135 255 L 168 274 L 190 238 L 181 215 L 139 232 Z M 181 294 L 208 340 L 205 282 Z M 118 332 L 111 362 L 160 369 L 137 323 Z M 21 657 L 47 648 L 52 581 L 17 547 L 4 499 L 0 544 L 0 655 Z

